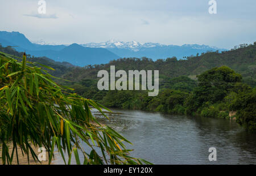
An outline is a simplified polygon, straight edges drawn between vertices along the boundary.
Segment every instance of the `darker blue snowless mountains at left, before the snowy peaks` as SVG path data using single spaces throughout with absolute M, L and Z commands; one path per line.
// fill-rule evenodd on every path
M 13 46 L 17 51 L 26 51 L 35 57 L 48 57 L 59 62 L 69 62 L 76 66 L 108 63 L 119 56 L 104 48 L 88 48 L 78 44 L 39 45 L 30 42 L 19 32 L 0 32 L 0 44 Z

